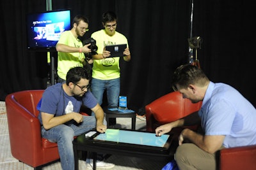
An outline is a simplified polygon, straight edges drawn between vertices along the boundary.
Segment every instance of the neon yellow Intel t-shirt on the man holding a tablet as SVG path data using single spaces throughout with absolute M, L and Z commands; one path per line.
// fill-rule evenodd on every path
M 118 45 L 127 44 L 127 38 L 119 32 L 115 32 L 113 36 L 108 36 L 105 30 L 102 29 L 97 32 L 93 32 L 92 38 L 96 40 L 98 46 L 97 53 L 102 53 L 104 46 L 106 45 Z M 120 56 L 123 57 L 123 56 Z M 109 57 L 101 60 L 93 60 L 92 77 L 100 80 L 112 80 L 120 78 L 120 57 Z

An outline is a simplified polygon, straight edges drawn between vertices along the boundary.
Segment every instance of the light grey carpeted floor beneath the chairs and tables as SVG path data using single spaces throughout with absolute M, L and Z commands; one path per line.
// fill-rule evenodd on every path
M 116 123 L 122 129 L 131 129 L 131 118 L 117 118 Z M 136 118 L 136 129 L 145 130 L 145 117 Z M 158 162 L 154 160 L 140 159 L 136 157 L 124 157 L 122 155 L 111 155 L 106 162 L 115 164 L 113 170 L 159 170 L 166 162 Z M 5 103 L 0 101 L 0 169 L 1 170 L 33 170 L 33 167 L 28 166 L 19 160 L 12 157 L 9 142 L 8 123 L 6 116 Z M 49 166 L 45 166 L 43 170 L 60 170 L 60 162 L 56 162 Z M 85 162 L 79 160 L 79 169 L 86 169 Z

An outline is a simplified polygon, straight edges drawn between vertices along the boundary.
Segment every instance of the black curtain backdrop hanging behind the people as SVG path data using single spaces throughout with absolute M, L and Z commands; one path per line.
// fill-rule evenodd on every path
M 20 90 L 45 89 L 50 68 L 47 52 L 26 50 L 26 15 L 45 11 L 45 0 L 1 1 L 0 97 Z M 200 66 L 211 81 L 232 85 L 256 106 L 255 5 L 253 1 L 194 0 L 193 36 L 203 39 Z M 52 10 L 72 9 L 72 17 L 89 18 L 90 31 L 102 29 L 101 16 L 118 15 L 131 62 L 120 60 L 121 94 L 128 107 L 140 110 L 172 92 L 172 74 L 188 63 L 191 0 L 52 0 Z M 51 56 L 57 57 L 56 52 Z

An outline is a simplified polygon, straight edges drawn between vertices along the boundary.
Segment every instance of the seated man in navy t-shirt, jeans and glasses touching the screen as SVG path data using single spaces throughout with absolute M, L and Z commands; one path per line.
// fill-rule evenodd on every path
M 90 76 L 83 67 L 71 68 L 65 83 L 48 87 L 43 96 L 38 118 L 42 125 L 42 137 L 58 143 L 61 167 L 63 170 L 74 169 L 74 151 L 72 141 L 90 129 L 105 132 L 104 111 L 92 95 L 89 87 Z M 82 106 L 90 108 L 94 116 L 79 113 Z M 97 167 L 110 169 L 114 164 L 97 161 Z M 86 167 L 92 168 L 92 160 L 86 160 Z

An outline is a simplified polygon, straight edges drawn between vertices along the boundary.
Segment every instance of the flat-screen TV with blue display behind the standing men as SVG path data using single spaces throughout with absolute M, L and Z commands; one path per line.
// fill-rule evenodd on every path
M 55 51 L 61 33 L 70 27 L 71 10 L 29 13 L 26 16 L 28 50 Z

